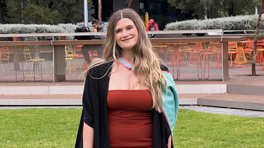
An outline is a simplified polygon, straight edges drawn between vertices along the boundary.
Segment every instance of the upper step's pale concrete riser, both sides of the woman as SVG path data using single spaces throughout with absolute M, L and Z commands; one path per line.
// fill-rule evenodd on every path
M 62 95 L 83 94 L 83 85 L 65 86 L 0 86 L 0 95 Z M 230 84 L 176 85 L 179 94 L 232 93 L 264 96 L 264 86 Z

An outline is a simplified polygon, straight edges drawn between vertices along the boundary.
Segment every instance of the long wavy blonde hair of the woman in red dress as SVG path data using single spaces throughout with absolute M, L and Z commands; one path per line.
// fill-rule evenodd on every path
M 121 55 L 122 49 L 116 43 L 115 26 L 116 22 L 123 18 L 130 19 L 134 22 L 138 29 L 138 42 L 134 47 L 134 74 L 138 79 L 138 83 L 140 83 L 141 86 L 146 86 L 150 90 L 153 98 L 152 108 L 161 112 L 160 105 L 162 103 L 162 87 L 167 85 L 166 79 L 160 70 L 160 63 L 162 63 L 162 61 L 157 58 L 157 54 L 153 52 L 145 29 L 145 24 L 134 9 L 125 8 L 118 10 L 111 15 L 107 26 L 106 39 L 104 41 L 103 57 L 102 59 L 93 60 L 89 69 L 113 61 L 117 62 L 117 65 L 119 65 L 117 59 Z M 89 69 L 85 72 L 85 77 Z M 137 70 L 140 71 L 141 74 L 138 74 Z

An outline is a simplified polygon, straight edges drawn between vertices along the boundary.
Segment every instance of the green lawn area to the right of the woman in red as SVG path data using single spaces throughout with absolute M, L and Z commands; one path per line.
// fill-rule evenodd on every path
M 264 118 L 179 110 L 173 130 L 179 148 L 263 148 Z

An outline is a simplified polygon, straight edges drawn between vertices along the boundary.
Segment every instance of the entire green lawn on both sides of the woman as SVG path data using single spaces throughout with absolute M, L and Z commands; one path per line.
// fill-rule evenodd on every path
M 81 109 L 2 109 L 0 147 L 74 147 Z M 174 147 L 264 147 L 264 118 L 179 110 Z

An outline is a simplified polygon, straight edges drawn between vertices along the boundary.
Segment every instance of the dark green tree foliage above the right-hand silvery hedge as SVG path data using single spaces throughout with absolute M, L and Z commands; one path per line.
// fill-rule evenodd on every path
M 259 6 L 259 2 L 248 0 L 168 0 L 168 3 L 182 13 L 193 11 L 198 19 L 204 19 L 205 12 L 209 18 L 255 14 L 255 6 Z

